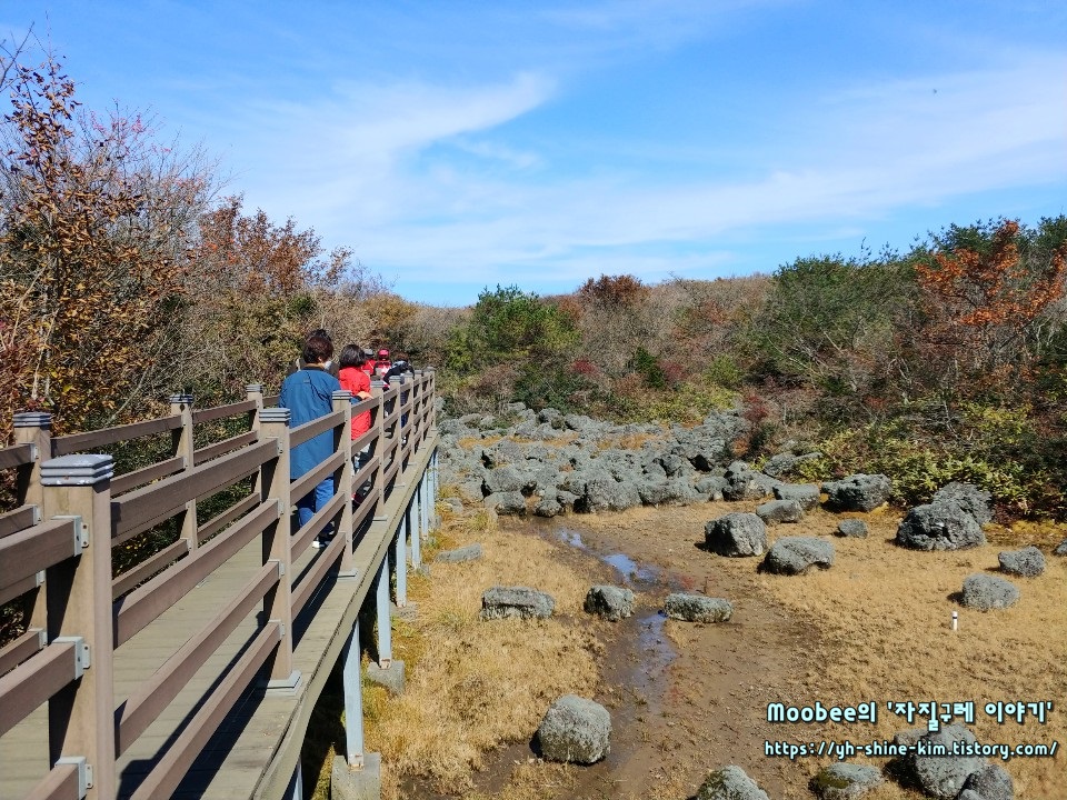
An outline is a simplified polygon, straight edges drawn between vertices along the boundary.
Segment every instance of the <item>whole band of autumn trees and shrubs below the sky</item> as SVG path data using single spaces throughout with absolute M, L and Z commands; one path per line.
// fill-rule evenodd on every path
M 275 389 L 323 327 L 436 367 L 451 413 L 522 401 L 687 423 L 737 403 L 752 423 L 738 454 L 815 444 L 811 480 L 886 472 L 908 502 L 964 480 L 1006 513 L 1067 511 L 1067 217 L 768 274 L 602 274 L 435 308 L 225 196 L 210 158 L 161 142 L 151 120 L 81 108 L 61 62 L 2 66 L 2 440 L 21 410 L 52 412 L 61 433 L 158 414 L 176 391 L 207 406 L 250 381 Z

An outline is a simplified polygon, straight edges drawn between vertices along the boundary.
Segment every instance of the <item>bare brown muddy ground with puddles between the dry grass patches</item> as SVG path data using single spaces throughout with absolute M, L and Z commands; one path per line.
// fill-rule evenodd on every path
M 609 633 L 594 698 L 611 711 L 611 753 L 597 764 L 568 768 L 555 793 L 541 784 L 542 797 L 686 798 L 710 769 L 730 763 L 772 798 L 811 797 L 808 771 L 768 758 L 765 742 L 781 737 L 766 721 L 767 704 L 789 703 L 790 676 L 818 669 L 818 649 L 810 647 L 816 631 L 760 591 L 755 559 L 724 560 L 698 548 L 710 511 L 670 509 L 659 520 L 501 520 L 505 530 L 558 542 L 559 557 L 590 582 L 628 586 L 638 596 L 635 616 Z M 731 621 L 664 618 L 664 598 L 689 590 L 728 598 Z M 500 791 L 513 768 L 535 756 L 531 743 L 501 750 L 476 779 L 479 789 Z

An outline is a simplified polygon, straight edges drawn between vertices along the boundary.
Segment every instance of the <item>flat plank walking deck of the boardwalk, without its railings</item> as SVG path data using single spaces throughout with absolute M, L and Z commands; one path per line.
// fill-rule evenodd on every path
M 301 681 L 295 696 L 246 691 L 216 726 L 176 798 L 282 797 L 300 756 L 311 710 L 352 630 L 378 566 L 387 557 L 400 516 L 408 508 L 436 442 L 428 439 L 409 461 L 400 480 L 359 540 L 356 578 L 331 573 L 295 621 L 295 667 Z M 418 536 L 418 533 L 413 533 Z M 211 573 L 195 590 L 116 650 L 114 696 L 128 698 L 163 664 L 181 643 L 198 633 L 239 589 L 262 569 L 261 541 L 256 538 Z M 307 550 L 293 568 L 308 569 L 325 550 Z M 218 648 L 178 698 L 117 761 L 119 797 L 130 797 L 143 777 L 201 708 L 203 699 L 231 662 L 261 630 L 259 608 Z M 49 772 L 48 710 L 41 707 L 0 738 L 0 800 L 21 800 Z

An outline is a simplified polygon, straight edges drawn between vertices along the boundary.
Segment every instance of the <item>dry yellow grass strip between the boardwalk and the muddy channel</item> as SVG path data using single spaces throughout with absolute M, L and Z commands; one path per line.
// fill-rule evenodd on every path
M 485 766 L 487 751 L 529 739 L 549 703 L 565 693 L 588 696 L 598 678 L 601 646 L 589 626 L 568 619 L 580 613 L 588 581 L 561 566 L 552 546 L 501 533 L 485 511 L 455 518 L 441 510 L 443 541 L 479 541 L 483 557 L 435 564 L 431 580 L 412 587 L 418 644 L 405 654 L 407 689 L 388 699 L 368 692 L 367 746 L 387 764 L 386 800 L 399 797 L 403 776 L 427 776 L 440 791 L 471 788 L 471 770 Z M 495 584 L 547 591 L 556 617 L 482 622 L 481 593 Z M 518 793 L 507 797 L 540 797 L 522 786 L 520 776 L 509 789 Z

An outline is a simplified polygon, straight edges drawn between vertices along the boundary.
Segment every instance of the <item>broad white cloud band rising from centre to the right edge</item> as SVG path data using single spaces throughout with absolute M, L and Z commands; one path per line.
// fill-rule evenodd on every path
M 425 197 L 442 187 L 451 203 L 495 198 L 480 218 L 443 216 L 433 224 L 397 213 L 369 231 L 362 253 L 406 279 L 488 281 L 501 273 L 541 280 L 627 268 L 647 279 L 668 263 L 719 269 L 728 261 L 716 238 L 782 223 L 865 219 L 906 204 L 935 204 L 956 194 L 1067 177 L 1067 109 L 1054 102 L 1060 57 L 1035 57 L 1003 71 L 971 71 L 868 83 L 827 93 L 790 120 L 762 153 L 750 153 L 754 180 L 714 174 L 665 181 L 628 170 L 597 179 L 555 176 L 547 184 L 509 184 L 480 174 L 441 179 L 432 168 L 395 174 Z M 937 89 L 935 92 L 934 89 Z M 483 134 L 490 140 L 490 132 Z M 499 144 L 507 149 L 506 144 Z M 774 169 L 774 164 L 789 164 Z M 412 191 L 415 191 L 412 189 Z M 420 206 L 425 211 L 425 208 Z M 676 259 L 670 244 L 706 254 Z M 632 246 L 660 246 L 661 256 L 634 257 Z M 612 252 L 615 251 L 615 252 Z M 419 269 L 433 264 L 443 269 Z

